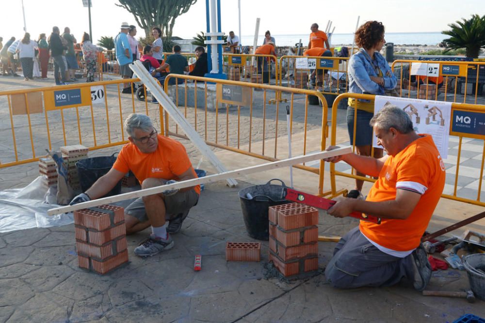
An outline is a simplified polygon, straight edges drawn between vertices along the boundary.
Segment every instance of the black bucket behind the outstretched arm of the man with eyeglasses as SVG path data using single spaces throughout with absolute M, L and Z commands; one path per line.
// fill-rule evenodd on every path
M 116 153 L 115 153 L 116 154 Z M 79 183 L 81 189 L 85 192 L 91 187 L 101 176 L 105 175 L 116 161 L 115 154 L 111 156 L 92 157 L 81 159 L 76 163 L 78 169 Z M 103 197 L 118 195 L 121 193 L 121 181 L 119 181 L 111 191 Z

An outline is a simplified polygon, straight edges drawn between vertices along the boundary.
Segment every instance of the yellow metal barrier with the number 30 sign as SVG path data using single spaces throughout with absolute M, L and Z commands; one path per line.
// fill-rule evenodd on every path
M 138 82 L 139 79 L 129 79 Z M 127 80 L 0 92 L 0 169 L 37 161 L 46 149 L 82 144 L 90 150 L 128 142 L 123 118 L 142 112 L 160 120 L 159 105 L 121 94 Z M 121 87 L 121 88 L 120 88 Z M 145 95 L 145 98 L 147 95 Z

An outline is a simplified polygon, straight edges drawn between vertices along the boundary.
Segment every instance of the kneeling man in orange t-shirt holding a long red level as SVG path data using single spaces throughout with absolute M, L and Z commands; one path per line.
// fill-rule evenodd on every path
M 343 160 L 378 179 L 366 200 L 337 198 L 327 213 L 344 217 L 357 211 L 381 217 L 382 222 L 360 221 L 343 236 L 325 277 L 339 288 L 391 286 L 404 278 L 422 291 L 431 278 L 431 266 L 420 239 L 443 191 L 443 159 L 433 138 L 415 133 L 400 108 L 384 108 L 370 123 L 386 156 L 346 154 L 325 161 Z

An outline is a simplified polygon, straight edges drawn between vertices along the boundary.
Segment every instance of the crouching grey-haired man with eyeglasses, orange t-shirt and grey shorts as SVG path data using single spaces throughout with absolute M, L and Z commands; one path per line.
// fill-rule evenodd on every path
M 157 134 L 144 114 L 132 113 L 125 120 L 129 143 L 123 146 L 110 171 L 100 177 L 86 192 L 75 197 L 70 205 L 98 199 L 108 193 L 129 170 L 142 189 L 197 178 L 184 146 L 177 140 Z M 137 256 L 148 257 L 171 249 L 170 234 L 180 231 L 190 208 L 197 204 L 200 186 L 168 190 L 133 201 L 125 209 L 127 234 L 151 226 L 152 234 L 136 247 Z M 168 226 L 165 220 L 169 220 Z

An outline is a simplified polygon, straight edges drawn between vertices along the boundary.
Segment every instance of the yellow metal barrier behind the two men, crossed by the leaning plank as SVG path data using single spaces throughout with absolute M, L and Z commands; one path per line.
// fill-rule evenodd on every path
M 169 85 L 174 82 L 180 84 Z M 266 103 L 267 97 L 274 95 L 286 96 L 290 101 L 286 108 L 290 112 L 292 155 L 325 147 L 328 109 L 319 92 L 177 74 L 167 76 L 164 89 L 213 147 L 269 161 L 287 158 L 287 111 L 280 107 L 279 100 L 275 105 Z M 309 95 L 317 96 L 321 105 L 312 109 Z M 166 136 L 187 139 L 177 125 L 169 123 L 167 116 L 164 120 Z M 323 161 L 294 167 L 320 174 L 319 192 L 322 191 Z

